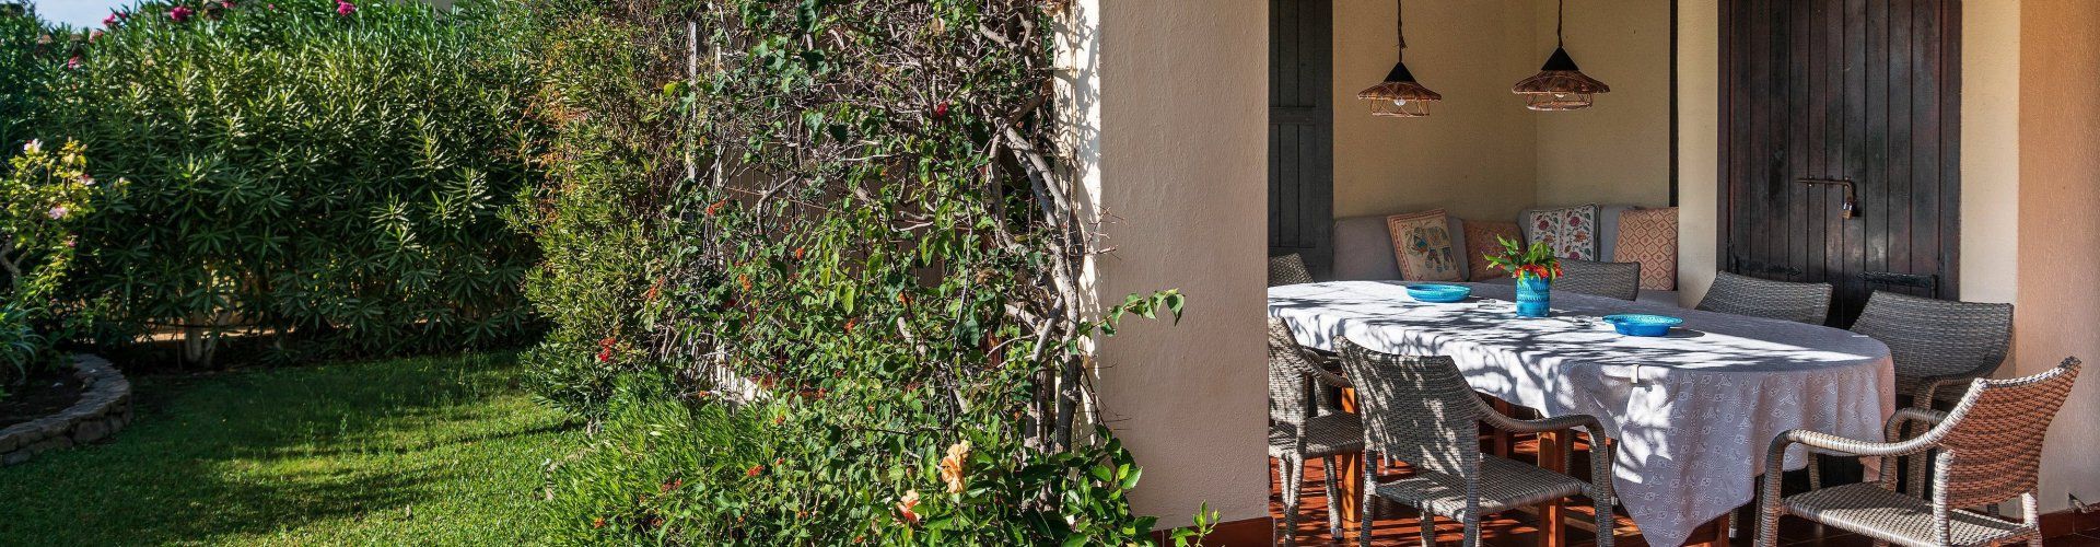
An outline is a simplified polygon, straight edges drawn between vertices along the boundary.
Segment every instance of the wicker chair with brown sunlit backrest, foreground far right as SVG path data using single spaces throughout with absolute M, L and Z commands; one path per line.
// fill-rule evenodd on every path
M 1764 469 L 1779 469 L 1789 444 L 1846 457 L 1880 457 L 1880 482 L 1816 488 L 1779 497 L 1779 473 L 1764 473 L 1764 503 L 1758 520 L 1758 545 L 1777 545 L 1779 518 L 1800 515 L 1827 526 L 1865 534 L 1875 545 L 2003 545 L 2026 541 L 2041 545 L 2041 515 L 2035 484 L 2039 482 L 2041 440 L 2062 408 L 2079 377 L 2079 360 L 2024 379 L 1972 381 L 1953 410 L 1903 408 L 1888 419 L 1888 442 L 1861 442 L 1806 429 L 1791 429 L 1772 440 Z M 1930 425 L 1922 435 L 1905 440 L 1898 431 L 1909 423 Z M 1896 457 L 1926 454 L 1938 463 L 1932 473 L 1932 494 L 1896 492 Z M 1997 505 L 2018 497 L 2018 522 L 1959 507 Z

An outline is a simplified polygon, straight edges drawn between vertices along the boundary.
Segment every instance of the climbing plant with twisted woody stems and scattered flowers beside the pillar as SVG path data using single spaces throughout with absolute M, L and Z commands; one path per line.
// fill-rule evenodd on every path
M 1050 4 L 540 0 L 542 396 L 575 541 L 1149 543 L 1088 417 Z M 1075 433 L 1077 429 L 1077 433 Z M 1088 435 L 1088 431 L 1094 431 Z M 1191 507 L 1195 509 L 1195 507 Z

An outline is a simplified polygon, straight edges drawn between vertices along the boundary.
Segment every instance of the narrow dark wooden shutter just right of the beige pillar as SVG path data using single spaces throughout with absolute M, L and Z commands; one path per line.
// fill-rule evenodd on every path
M 1268 0 L 1268 255 L 1334 269 L 1334 4 Z

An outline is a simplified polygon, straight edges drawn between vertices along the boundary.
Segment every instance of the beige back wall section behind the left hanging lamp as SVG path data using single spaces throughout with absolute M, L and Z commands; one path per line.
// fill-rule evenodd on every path
M 1537 198 L 1535 114 L 1510 84 L 1550 50 L 1529 0 L 1409 2 L 1407 67 L 1443 93 L 1428 118 L 1373 118 L 1357 93 L 1392 69 L 1390 0 L 1334 0 L 1334 215 L 1445 208 L 1516 219 Z

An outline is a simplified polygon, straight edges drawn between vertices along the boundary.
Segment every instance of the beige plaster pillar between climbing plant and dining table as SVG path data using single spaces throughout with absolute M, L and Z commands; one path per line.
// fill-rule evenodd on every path
M 1266 518 L 1268 2 L 1077 0 L 1060 23 L 1065 154 L 1115 248 L 1090 286 L 1189 297 L 1180 324 L 1100 343 L 1102 419 L 1144 467 L 1132 501 L 1161 526 L 1203 503 Z

